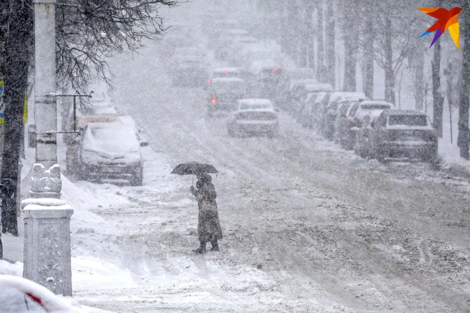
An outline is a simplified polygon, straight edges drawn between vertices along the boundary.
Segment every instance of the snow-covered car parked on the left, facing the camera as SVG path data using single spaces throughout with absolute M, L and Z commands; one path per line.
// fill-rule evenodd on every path
M 126 179 L 141 186 L 143 161 L 135 128 L 121 122 L 88 124 L 79 144 L 80 179 Z

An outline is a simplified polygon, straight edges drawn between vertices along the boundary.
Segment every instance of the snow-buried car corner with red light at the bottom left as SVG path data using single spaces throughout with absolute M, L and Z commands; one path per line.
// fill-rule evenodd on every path
M 71 297 L 56 295 L 46 287 L 23 277 L 0 275 L 0 290 L 0 312 L 88 312 Z

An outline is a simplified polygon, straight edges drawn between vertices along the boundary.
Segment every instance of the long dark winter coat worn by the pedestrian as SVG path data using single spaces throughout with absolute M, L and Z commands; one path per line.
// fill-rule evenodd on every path
M 222 228 L 220 227 L 217 202 L 215 202 L 214 185 L 211 176 L 207 175 L 196 183 L 198 189 L 192 189 L 199 206 L 197 234 L 199 241 L 208 242 L 214 239 L 222 239 Z

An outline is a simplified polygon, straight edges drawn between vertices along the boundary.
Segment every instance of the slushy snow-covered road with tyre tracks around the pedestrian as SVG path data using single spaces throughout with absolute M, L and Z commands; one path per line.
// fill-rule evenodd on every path
M 202 89 L 167 82 L 145 55 L 115 78 L 116 102 L 155 153 L 145 186 L 123 189 L 134 205 L 94 210 L 121 227 L 134 284 L 78 288 L 80 303 L 116 312 L 470 311 L 468 179 L 366 161 L 286 114 L 279 137 L 231 138 L 224 119 L 204 118 Z M 220 252 L 191 252 L 191 178 L 150 166 L 169 173 L 192 160 L 219 169 Z

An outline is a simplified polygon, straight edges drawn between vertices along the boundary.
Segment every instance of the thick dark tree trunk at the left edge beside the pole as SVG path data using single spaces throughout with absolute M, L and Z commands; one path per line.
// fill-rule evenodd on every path
M 32 1 L 28 1 L 32 2 Z M 5 132 L 1 166 L 1 181 L 7 185 L 1 208 L 2 232 L 18 236 L 16 214 L 16 192 L 19 173 L 21 137 L 23 130 L 24 89 L 27 83 L 29 50 L 32 44 L 33 11 L 32 3 L 2 1 L 1 25 L 8 25 L 0 42 L 4 49 L 0 54 L 0 72 L 4 75 Z M 6 11 L 7 10 L 7 11 Z M 5 23 L 6 22 L 6 23 Z

